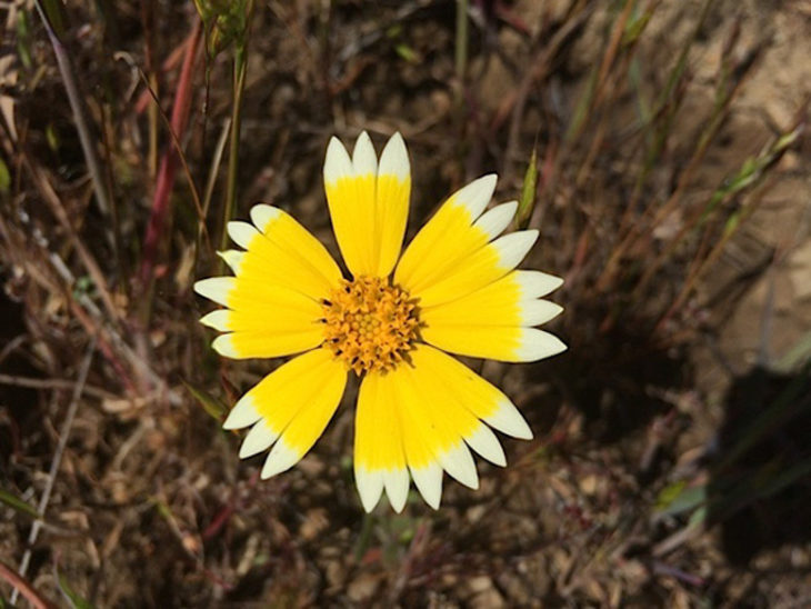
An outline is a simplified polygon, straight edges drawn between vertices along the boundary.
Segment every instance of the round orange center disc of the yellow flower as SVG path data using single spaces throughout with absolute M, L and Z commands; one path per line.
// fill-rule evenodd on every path
M 343 280 L 323 301 L 324 345 L 360 376 L 392 370 L 417 339 L 409 293 L 379 277 Z

